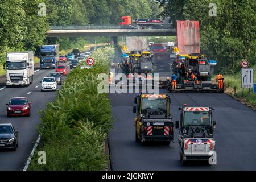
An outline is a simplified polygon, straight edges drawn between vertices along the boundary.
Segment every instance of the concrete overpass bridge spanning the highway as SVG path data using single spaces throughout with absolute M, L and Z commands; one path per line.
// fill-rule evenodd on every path
M 123 28 L 121 26 L 58 26 L 51 27 L 47 36 L 77 37 L 77 36 L 176 36 L 175 28 Z

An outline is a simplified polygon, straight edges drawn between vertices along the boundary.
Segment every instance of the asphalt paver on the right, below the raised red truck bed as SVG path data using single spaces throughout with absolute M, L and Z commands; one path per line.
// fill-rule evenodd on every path
M 212 79 L 213 67 L 205 55 L 192 53 L 190 55 L 178 55 L 176 61 L 172 65 L 172 71 L 177 76 L 176 91 L 199 91 L 208 92 L 224 92 L 224 87 L 218 89 L 218 82 Z M 187 76 L 189 70 L 195 76 L 191 78 Z M 171 87 L 170 78 L 167 79 L 168 90 L 175 91 Z

